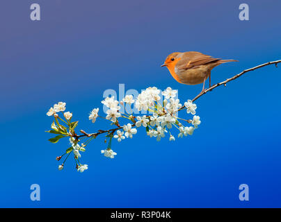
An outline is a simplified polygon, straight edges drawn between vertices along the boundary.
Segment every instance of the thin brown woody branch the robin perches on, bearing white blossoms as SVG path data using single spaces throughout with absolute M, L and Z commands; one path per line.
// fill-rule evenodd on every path
M 197 99 L 199 99 L 202 95 L 206 94 L 207 92 L 213 90 L 214 88 L 216 87 L 219 87 L 220 85 L 225 85 L 226 86 L 226 83 L 229 83 L 230 81 L 236 79 L 236 78 L 239 78 L 240 76 L 242 76 L 243 74 L 246 74 L 248 71 L 254 71 L 255 69 L 259 69 L 259 68 L 262 68 L 262 67 L 265 67 L 267 65 L 273 65 L 275 64 L 275 67 L 278 67 L 278 63 L 280 63 L 281 60 L 276 60 L 276 61 L 272 61 L 272 62 L 266 62 L 262 65 L 258 65 L 257 67 L 252 67 L 250 69 L 246 69 L 244 71 L 242 71 L 241 73 L 239 74 L 236 74 L 235 76 L 233 76 L 232 78 L 227 78 L 226 80 L 224 80 L 223 82 L 220 82 L 220 83 L 217 83 L 211 87 L 209 87 L 208 89 L 205 89 L 203 92 L 201 92 L 200 94 L 198 94 L 197 96 L 195 96 L 195 98 L 192 100 L 193 102 Z M 183 110 L 185 108 L 185 106 L 183 105 L 181 108 L 179 108 L 178 111 L 180 110 Z M 136 126 L 136 124 L 133 124 L 132 126 Z M 83 134 L 83 135 L 74 135 L 75 139 L 79 139 L 81 137 L 97 137 L 97 135 L 100 135 L 102 133 L 115 133 L 116 130 L 120 130 L 121 128 L 123 128 L 122 126 L 118 126 L 118 128 L 113 128 L 111 130 L 98 130 L 98 133 L 86 133 L 84 130 L 80 130 L 80 132 Z

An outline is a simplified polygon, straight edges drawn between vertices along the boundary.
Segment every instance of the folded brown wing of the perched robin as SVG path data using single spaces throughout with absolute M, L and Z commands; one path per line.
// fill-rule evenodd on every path
M 218 58 L 212 58 L 211 56 L 204 55 L 202 53 L 196 52 L 196 51 L 189 51 L 184 53 L 182 56 L 182 59 L 177 62 L 177 69 L 183 70 L 183 69 L 195 69 L 199 67 L 200 65 L 205 65 L 209 62 L 215 62 L 220 59 Z

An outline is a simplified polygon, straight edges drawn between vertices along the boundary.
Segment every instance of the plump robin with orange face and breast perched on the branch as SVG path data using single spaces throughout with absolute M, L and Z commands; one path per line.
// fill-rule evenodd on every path
M 186 51 L 185 53 L 171 53 L 161 67 L 167 67 L 175 80 L 186 85 L 203 83 L 209 77 L 211 87 L 211 69 L 225 62 L 238 62 L 237 60 L 221 60 L 212 58 L 197 51 Z

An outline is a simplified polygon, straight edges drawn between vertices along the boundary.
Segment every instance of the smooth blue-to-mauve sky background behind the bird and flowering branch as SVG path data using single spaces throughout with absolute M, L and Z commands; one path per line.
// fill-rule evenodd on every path
M 40 3 L 41 21 L 29 19 Z M 239 4 L 250 21 L 239 20 Z M 58 171 L 68 147 L 47 141 L 46 112 L 58 101 L 79 120 L 105 89 L 170 86 L 192 99 L 201 85 L 177 83 L 160 65 L 173 51 L 200 51 L 239 62 L 216 67 L 212 81 L 280 59 L 280 1 L 1 1 L 0 207 L 281 207 L 280 68 L 264 67 L 202 96 L 200 128 L 176 142 L 139 130 L 118 144 L 114 160 L 93 141 L 77 173 L 73 160 Z M 185 112 L 182 117 L 186 116 Z M 30 200 L 30 186 L 41 200 Z M 241 202 L 239 185 L 250 188 Z

